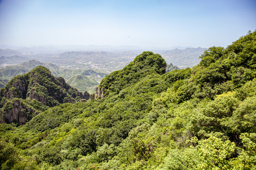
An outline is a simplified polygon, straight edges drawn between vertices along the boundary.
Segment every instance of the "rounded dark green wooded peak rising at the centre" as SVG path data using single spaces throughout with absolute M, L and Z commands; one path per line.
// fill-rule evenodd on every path
M 137 83 L 137 81 L 151 74 L 164 74 L 166 62 L 159 54 L 146 51 L 138 55 L 122 70 L 114 71 L 102 79 L 100 87 L 104 95 L 119 93 L 122 89 Z

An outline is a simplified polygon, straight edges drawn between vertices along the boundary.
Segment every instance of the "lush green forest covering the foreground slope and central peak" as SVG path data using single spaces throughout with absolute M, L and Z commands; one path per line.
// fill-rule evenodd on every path
M 1 170 L 255 170 L 256 31 L 200 59 L 166 73 L 145 51 L 87 102 L 46 98 L 25 125 L 0 124 Z

